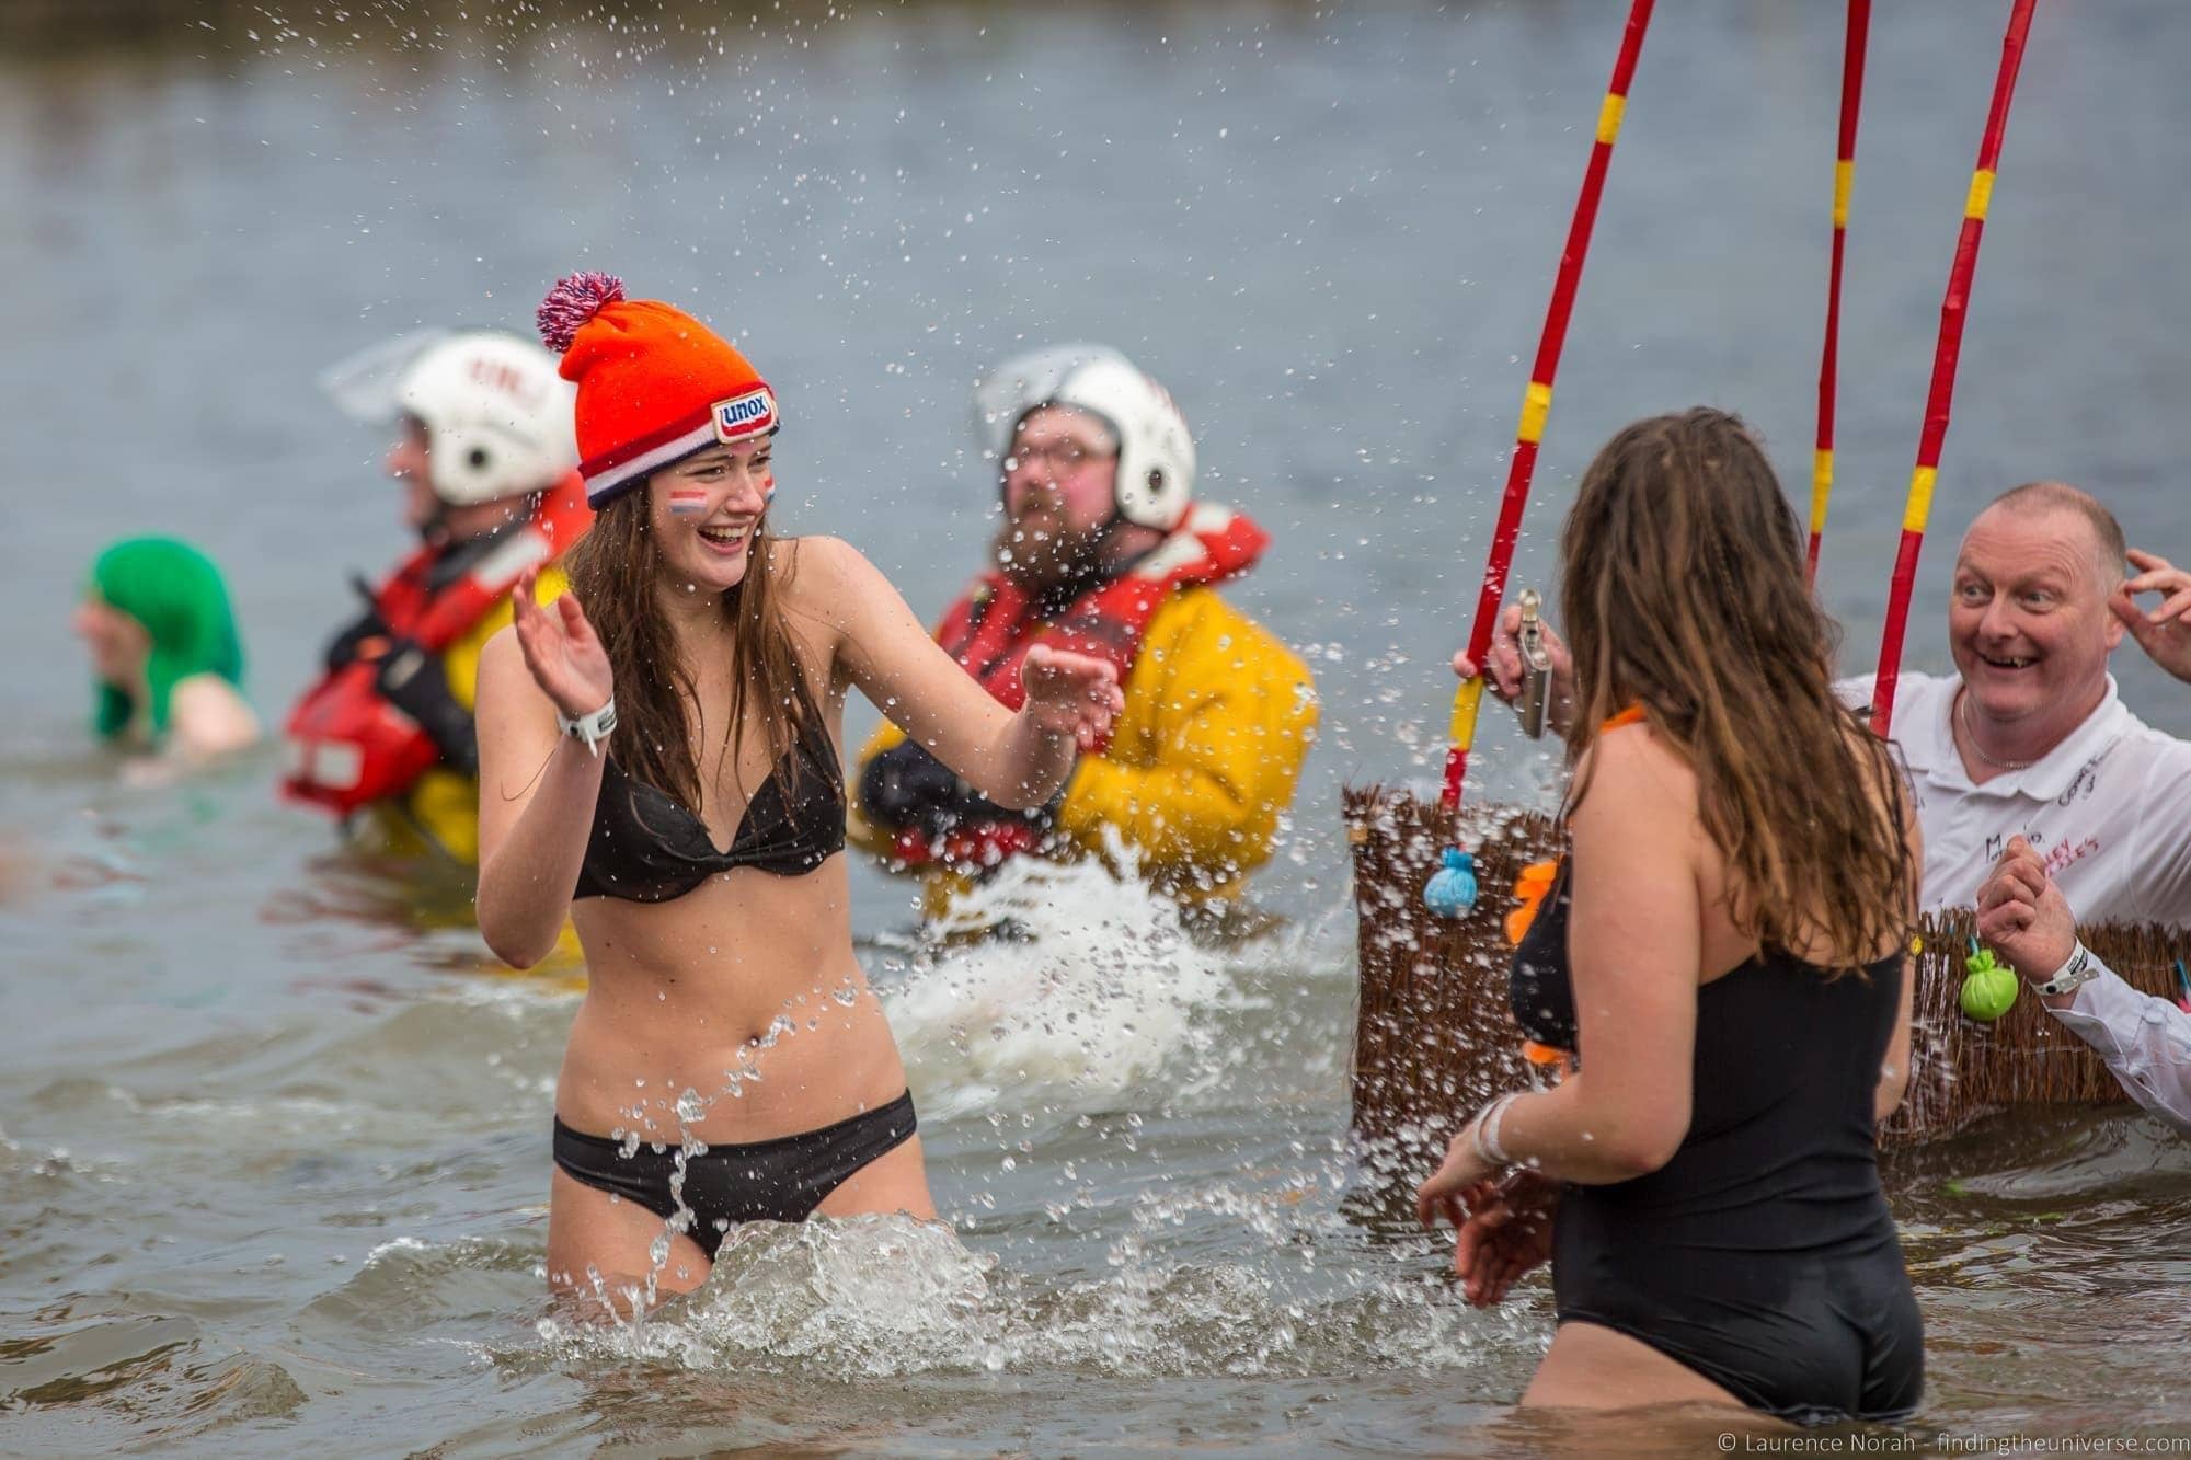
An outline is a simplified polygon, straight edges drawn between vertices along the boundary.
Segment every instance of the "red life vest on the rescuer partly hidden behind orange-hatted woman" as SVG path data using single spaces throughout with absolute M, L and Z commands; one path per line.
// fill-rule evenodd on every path
M 594 524 L 585 478 L 576 471 L 546 493 L 532 515 L 471 572 L 434 583 L 449 548 L 418 548 L 372 594 L 386 634 L 329 669 L 289 712 L 289 774 L 283 794 L 337 815 L 403 796 L 440 763 L 440 750 L 416 719 L 379 693 L 381 658 L 397 640 L 440 653 L 469 634 L 517 585 L 528 568 L 554 561 Z

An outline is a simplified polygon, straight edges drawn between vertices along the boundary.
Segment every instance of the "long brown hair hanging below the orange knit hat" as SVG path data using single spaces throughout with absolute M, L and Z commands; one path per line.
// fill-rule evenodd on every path
M 572 546 L 565 570 L 570 590 L 600 636 L 603 649 L 609 651 L 609 669 L 616 671 L 616 730 L 609 734 L 609 754 L 627 776 L 699 811 L 701 748 L 688 726 L 706 726 L 712 717 L 703 712 L 692 673 L 677 655 L 670 623 L 655 603 L 662 566 L 646 511 L 644 482 L 603 506 L 592 531 Z M 747 548 L 745 579 L 723 594 L 732 636 L 730 721 L 721 745 L 732 765 L 745 745 L 749 708 L 752 723 L 767 741 L 771 767 L 782 763 L 793 743 L 826 743 L 828 737 L 784 620 L 780 594 L 791 570 L 776 566 L 771 552 L 776 541 L 762 517 Z M 835 756 L 826 761 L 835 763 Z M 793 774 L 795 765 L 793 761 Z M 793 787 L 784 787 L 784 794 L 791 791 Z

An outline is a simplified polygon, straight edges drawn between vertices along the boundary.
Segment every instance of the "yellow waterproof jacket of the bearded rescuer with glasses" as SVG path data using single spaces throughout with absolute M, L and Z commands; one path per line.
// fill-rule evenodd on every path
M 1190 588 L 1150 618 L 1126 675 L 1126 708 L 1109 748 L 1080 756 L 1058 831 L 1100 855 L 1115 829 L 1157 888 L 1188 901 L 1234 897 L 1271 859 L 1315 730 L 1308 666 L 1216 590 Z M 903 739 L 883 721 L 859 752 L 852 785 Z M 890 835 L 857 809 L 850 840 L 890 855 Z

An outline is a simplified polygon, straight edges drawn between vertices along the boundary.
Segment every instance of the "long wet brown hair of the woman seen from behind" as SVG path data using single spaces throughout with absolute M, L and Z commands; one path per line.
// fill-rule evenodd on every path
M 1696 772 L 1744 934 L 1768 951 L 1825 947 L 1843 967 L 1906 943 L 1917 868 L 1902 778 L 1834 697 L 1838 629 L 1742 421 L 1696 408 L 1621 430 L 1582 476 L 1560 570 L 1573 754 L 1641 704 Z M 1586 789 L 1588 776 L 1575 798 Z

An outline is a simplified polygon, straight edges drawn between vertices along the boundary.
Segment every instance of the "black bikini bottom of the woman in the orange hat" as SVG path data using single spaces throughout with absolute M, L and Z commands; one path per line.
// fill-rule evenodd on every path
M 824 1125 L 819 1131 L 756 1140 L 745 1147 L 703 1147 L 684 1162 L 684 1206 L 692 1212 L 688 1234 L 708 1258 L 738 1221 L 806 1221 L 813 1210 L 868 1162 L 911 1140 L 914 1092 L 881 1109 Z M 677 1147 L 640 1142 L 624 1155 L 624 1142 L 574 1131 L 554 1122 L 554 1164 L 574 1182 L 644 1206 L 664 1221 L 677 1217 Z

